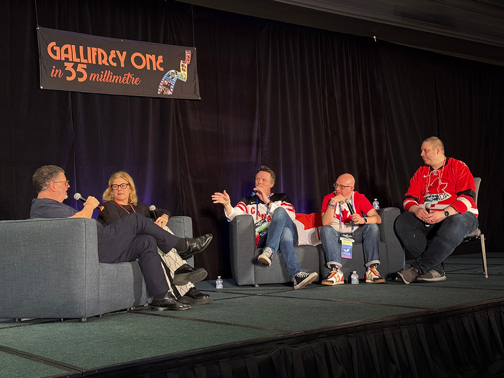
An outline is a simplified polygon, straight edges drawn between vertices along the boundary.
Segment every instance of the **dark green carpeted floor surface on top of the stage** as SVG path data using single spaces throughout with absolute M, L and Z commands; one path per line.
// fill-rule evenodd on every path
M 118 312 L 88 322 L 0 319 L 0 377 L 72 375 L 128 361 L 175 356 L 223 344 L 324 329 L 357 321 L 504 297 L 504 253 L 488 254 L 488 279 L 480 255 L 450 257 L 447 280 L 321 286 L 236 286 L 224 280 L 198 288 L 213 301 L 186 311 Z M 408 264 L 407 264 L 408 266 Z

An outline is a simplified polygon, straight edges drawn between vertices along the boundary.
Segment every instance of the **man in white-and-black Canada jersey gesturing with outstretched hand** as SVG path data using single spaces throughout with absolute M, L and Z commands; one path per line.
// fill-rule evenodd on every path
M 297 228 L 293 222 L 296 217 L 294 207 L 285 193 L 271 193 L 274 184 L 275 172 L 262 165 L 256 174 L 256 187 L 252 196 L 243 197 L 236 207 L 231 206 L 231 199 L 226 191 L 214 193 L 212 200 L 214 204 L 224 205 L 224 212 L 229 222 L 238 214 L 253 216 L 256 222 L 258 248 L 264 247 L 258 261 L 270 266 L 273 256 L 280 249 L 287 272 L 294 283 L 294 289 L 302 289 L 319 275 L 302 272 L 299 268 L 294 254 L 294 245 L 298 241 Z

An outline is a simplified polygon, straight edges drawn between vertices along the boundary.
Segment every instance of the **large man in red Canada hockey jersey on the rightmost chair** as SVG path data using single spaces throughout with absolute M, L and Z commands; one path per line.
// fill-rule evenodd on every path
M 409 269 L 398 272 L 407 284 L 445 280 L 441 263 L 478 227 L 474 177 L 467 165 L 447 158 L 437 137 L 423 141 L 420 156 L 425 164 L 411 178 L 403 200 L 406 212 L 394 223 L 415 258 Z

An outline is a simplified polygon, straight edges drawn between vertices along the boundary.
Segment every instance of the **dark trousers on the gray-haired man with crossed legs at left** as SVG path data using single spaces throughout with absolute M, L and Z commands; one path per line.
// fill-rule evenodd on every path
M 157 247 L 168 253 L 178 240 L 177 236 L 138 213 L 128 214 L 105 227 L 98 223 L 100 263 L 122 263 L 138 259 L 149 296 L 169 290 Z

